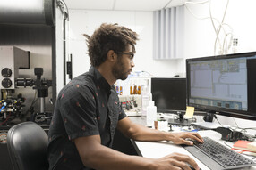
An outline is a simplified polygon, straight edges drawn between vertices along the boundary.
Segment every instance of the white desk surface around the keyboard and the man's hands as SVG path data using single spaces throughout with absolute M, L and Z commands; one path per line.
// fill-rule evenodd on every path
M 214 139 L 215 141 L 218 141 L 222 144 L 224 144 L 224 141 L 221 139 L 221 134 L 218 134 L 215 131 L 212 130 L 206 130 L 206 131 L 200 131 L 199 134 L 201 136 L 208 136 L 211 139 Z M 205 166 L 201 163 L 201 161 L 195 157 L 192 156 L 191 153 L 189 153 L 187 150 L 183 149 L 182 146 L 175 145 L 172 142 L 133 142 L 135 149 L 139 154 L 141 153 L 141 156 L 146 158 L 162 158 L 170 153 L 173 152 L 179 152 L 186 155 L 189 155 L 191 158 L 193 158 L 198 165 L 201 167 L 202 170 L 209 170 L 209 167 Z M 230 146 L 232 146 L 232 142 L 228 142 Z M 256 170 L 256 166 L 252 166 L 251 168 L 244 168 L 244 169 L 250 169 L 250 170 Z

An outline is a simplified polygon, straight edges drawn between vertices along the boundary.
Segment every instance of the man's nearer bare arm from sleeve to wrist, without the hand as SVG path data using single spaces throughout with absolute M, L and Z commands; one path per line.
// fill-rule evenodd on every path
M 134 158 L 100 144 L 99 135 L 74 140 L 84 166 L 95 169 L 155 169 L 149 158 Z M 143 159 L 143 160 L 142 160 Z M 147 168 L 146 168 L 147 167 Z M 149 168 L 151 167 L 151 168 Z

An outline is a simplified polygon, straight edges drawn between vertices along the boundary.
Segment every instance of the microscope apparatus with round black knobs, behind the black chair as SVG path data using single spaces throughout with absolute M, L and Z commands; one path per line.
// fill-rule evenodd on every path
M 24 120 L 49 123 L 52 114 L 45 111 L 45 98 L 48 96 L 48 88 L 52 86 L 52 80 L 41 78 L 43 68 L 34 69 L 36 79 L 20 78 L 19 69 L 30 69 L 30 52 L 15 46 L 0 46 L 0 61 L 0 126 L 13 125 L 13 122 L 20 123 Z M 38 93 L 38 112 L 34 110 L 33 104 L 28 111 L 22 110 L 25 107 L 25 98 L 21 93 L 15 94 L 18 87 L 32 87 Z

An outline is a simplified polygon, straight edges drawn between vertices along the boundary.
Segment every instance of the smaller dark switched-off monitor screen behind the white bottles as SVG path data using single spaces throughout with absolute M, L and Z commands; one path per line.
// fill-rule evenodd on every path
M 158 112 L 186 109 L 186 78 L 152 78 L 151 93 Z

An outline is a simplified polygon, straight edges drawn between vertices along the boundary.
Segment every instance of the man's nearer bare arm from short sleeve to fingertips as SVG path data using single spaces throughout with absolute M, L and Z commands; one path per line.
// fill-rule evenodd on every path
M 143 158 L 125 155 L 100 144 L 99 135 L 91 135 L 74 139 L 84 166 L 97 170 L 189 170 L 189 163 L 198 169 L 196 162 L 189 156 L 172 153 L 164 158 Z

